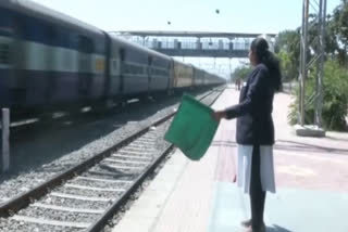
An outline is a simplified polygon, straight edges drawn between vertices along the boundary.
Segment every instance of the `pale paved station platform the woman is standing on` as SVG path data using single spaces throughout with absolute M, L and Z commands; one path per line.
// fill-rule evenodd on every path
M 236 104 L 228 88 L 213 105 Z M 268 232 L 347 232 L 348 133 L 299 138 L 287 125 L 290 95 L 274 102 L 276 193 L 268 193 Z M 249 197 L 235 181 L 235 120 L 222 120 L 204 157 L 190 162 L 179 151 L 134 203 L 114 232 L 243 232 Z

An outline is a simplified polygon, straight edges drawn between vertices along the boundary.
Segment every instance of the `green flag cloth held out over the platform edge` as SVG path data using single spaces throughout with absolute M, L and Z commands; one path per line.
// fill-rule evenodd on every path
M 188 158 L 199 160 L 219 127 L 212 113 L 212 108 L 185 94 L 164 139 L 179 147 Z

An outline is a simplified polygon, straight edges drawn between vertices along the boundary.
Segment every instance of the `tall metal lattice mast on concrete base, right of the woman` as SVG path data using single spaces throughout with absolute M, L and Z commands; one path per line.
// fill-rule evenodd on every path
M 309 24 L 310 15 L 314 16 L 312 24 Z M 315 28 L 312 28 L 316 26 Z M 300 39 L 300 72 L 299 72 L 299 125 L 296 132 L 298 136 L 324 137 L 322 129 L 322 108 L 323 108 L 323 79 L 325 62 L 325 30 L 326 30 L 326 0 L 303 0 L 302 5 L 302 29 Z M 308 35 L 310 29 L 318 30 L 319 37 L 311 43 Z M 313 46 L 318 46 L 314 50 Z M 309 60 L 309 54 L 311 60 Z M 306 81 L 308 70 L 316 64 L 316 86 L 315 92 L 308 99 L 306 98 Z M 314 126 L 304 126 L 306 107 L 314 104 Z

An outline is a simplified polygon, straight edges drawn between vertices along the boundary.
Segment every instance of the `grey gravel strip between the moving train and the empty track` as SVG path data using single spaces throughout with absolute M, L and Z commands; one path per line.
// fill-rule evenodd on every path
M 152 108 L 151 108 L 152 107 Z M 129 115 L 132 115 L 132 118 L 137 118 L 137 116 L 134 116 L 136 114 L 142 114 L 141 111 L 153 111 L 153 107 L 156 106 L 149 106 L 149 107 L 145 107 L 145 106 L 140 106 L 138 111 L 134 111 L 130 113 L 120 113 L 120 115 L 115 115 L 115 119 L 105 119 L 105 120 L 99 120 L 98 123 L 94 124 L 89 124 L 86 126 L 79 126 L 79 128 L 74 128 L 74 130 L 80 130 L 83 132 L 79 133 L 79 137 L 84 137 L 84 131 L 91 131 L 91 130 L 98 130 L 98 128 L 102 127 L 102 128 L 114 128 L 115 124 L 117 124 L 117 121 L 120 120 L 120 118 L 128 118 Z M 52 176 L 60 173 L 64 170 L 66 170 L 67 168 L 73 167 L 74 165 L 80 163 L 80 160 L 87 159 L 91 156 L 94 156 L 95 154 L 105 150 L 107 147 L 110 147 L 111 145 L 115 144 L 116 142 L 121 141 L 122 139 L 128 137 L 130 133 L 137 131 L 139 128 L 148 125 L 150 121 L 154 121 L 156 119 L 173 112 L 174 108 L 177 107 L 177 104 L 172 104 L 170 106 L 163 106 L 162 109 L 158 111 L 157 113 L 154 113 L 153 115 L 150 115 L 149 117 L 142 118 L 138 121 L 125 121 L 125 124 L 120 127 L 116 128 L 115 130 L 111 131 L 110 133 L 105 134 L 102 138 L 99 138 L 88 144 L 84 144 L 82 147 L 79 147 L 78 150 L 75 150 L 71 153 L 66 153 L 66 154 L 61 154 L 60 157 L 55 158 L 55 156 L 53 157 L 49 157 L 50 153 L 45 151 L 40 151 L 40 150 L 36 150 L 36 151 L 30 151 L 28 150 L 26 152 L 26 158 L 28 160 L 22 160 L 23 166 L 26 163 L 29 163 L 30 159 L 37 159 L 39 160 L 40 157 L 42 157 L 42 159 L 45 160 L 50 160 L 47 162 L 45 164 L 42 164 L 39 167 L 36 167 L 35 165 L 33 165 L 34 167 L 26 167 L 24 171 L 20 171 L 15 175 L 2 175 L 0 177 L 0 204 L 1 202 L 4 202 L 5 199 L 9 199 L 15 195 L 18 195 L 21 193 L 24 193 L 26 191 L 28 191 L 29 189 L 33 189 L 34 186 L 38 185 L 39 183 L 48 180 L 49 178 L 51 178 Z M 158 107 L 157 107 L 158 108 Z M 73 130 L 73 129 L 72 129 Z M 74 138 L 74 140 L 66 140 L 66 133 L 64 132 L 62 133 L 61 131 L 55 132 L 55 131 L 47 131 L 47 134 L 45 134 L 45 137 L 47 137 L 47 140 L 41 141 L 40 143 L 42 143 L 42 146 L 45 146 L 46 143 L 49 143 L 50 141 L 57 141 L 57 140 L 61 140 L 64 141 L 65 145 L 67 143 L 80 143 L 80 141 L 78 141 L 78 138 Z M 59 136 L 58 136 L 59 134 Z M 159 140 L 160 141 L 160 140 Z M 33 143 L 35 143 L 36 141 L 34 140 Z M 21 144 L 18 144 L 21 145 Z M 57 150 L 59 150 L 60 145 L 57 145 Z M 64 146 L 63 142 L 61 144 L 61 146 Z M 157 144 L 154 146 L 156 150 L 159 150 L 160 146 L 162 146 L 161 144 Z M 40 147 L 40 146 L 39 146 Z M 36 146 L 36 149 L 38 149 Z M 53 151 L 54 152 L 54 149 Z M 41 162 L 41 160 L 39 160 Z

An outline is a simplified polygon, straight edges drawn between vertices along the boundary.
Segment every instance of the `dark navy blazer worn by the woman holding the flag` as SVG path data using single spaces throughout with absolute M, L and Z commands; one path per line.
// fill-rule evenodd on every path
M 274 85 L 269 68 L 258 64 L 241 88 L 239 104 L 226 108 L 227 119 L 237 118 L 236 140 L 244 145 L 273 145 Z

